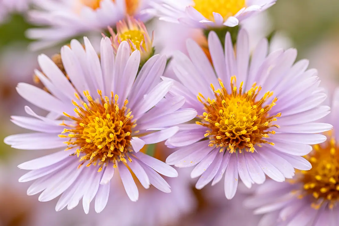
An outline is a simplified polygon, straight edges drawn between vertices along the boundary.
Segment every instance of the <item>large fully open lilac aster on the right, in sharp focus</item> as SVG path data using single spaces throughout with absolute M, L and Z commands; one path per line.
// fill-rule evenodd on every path
M 330 124 L 314 122 L 328 114 L 321 106 L 326 95 L 319 88 L 317 71 L 306 70 L 307 60 L 293 64 L 297 51 L 282 49 L 267 55 L 262 40 L 250 57 L 249 37 L 240 30 L 236 54 L 230 33 L 225 51 L 215 32 L 208 36 L 213 66 L 203 50 L 187 41 L 188 58 L 178 52 L 173 69 L 178 81 L 169 92 L 185 97 L 184 107 L 198 112 L 196 124 L 182 126 L 166 141 L 182 147 L 166 159 L 177 167 L 196 167 L 201 189 L 225 178 L 225 195 L 233 198 L 238 176 L 247 187 L 262 184 L 265 174 L 278 182 L 294 176 L 294 168 L 307 162 L 301 156 L 310 144 L 324 142 L 320 134 Z M 210 86 L 207 84 L 211 84 Z

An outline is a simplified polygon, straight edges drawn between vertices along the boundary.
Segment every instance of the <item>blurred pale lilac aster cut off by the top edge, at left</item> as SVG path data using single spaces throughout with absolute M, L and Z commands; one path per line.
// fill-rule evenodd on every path
M 33 49 L 53 46 L 85 32 L 102 31 L 115 26 L 126 15 L 149 19 L 142 13 L 150 0 L 35 0 L 38 9 L 31 10 L 31 22 L 47 28 L 32 28 L 27 37 L 38 41 Z

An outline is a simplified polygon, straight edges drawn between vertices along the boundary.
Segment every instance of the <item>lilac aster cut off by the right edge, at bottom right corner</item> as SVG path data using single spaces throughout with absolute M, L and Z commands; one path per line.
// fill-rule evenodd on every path
M 293 179 L 285 183 L 267 181 L 244 204 L 264 214 L 260 226 L 337 226 L 339 225 L 339 89 L 334 94 L 327 122 L 334 129 L 328 140 L 313 146 L 313 151 L 298 167 Z M 305 171 L 307 170 L 307 171 Z

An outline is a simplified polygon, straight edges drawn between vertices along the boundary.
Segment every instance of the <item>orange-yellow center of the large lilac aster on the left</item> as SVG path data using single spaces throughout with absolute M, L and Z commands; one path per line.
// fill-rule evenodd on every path
M 67 149 L 77 148 L 73 155 L 79 157 L 83 153 L 80 165 L 86 161 L 88 162 L 87 167 L 93 163 L 102 165 L 107 162 L 127 162 L 126 158 L 131 161 L 128 153 L 132 151 L 131 132 L 136 124 L 135 121 L 131 121 L 132 111 L 126 108 L 128 101 L 125 100 L 124 105 L 119 107 L 117 104 L 118 95 L 113 98 L 112 93 L 110 100 L 106 96 L 102 97 L 100 90 L 98 93 L 101 96 L 100 101 L 94 101 L 88 92 L 84 92 L 88 105 L 80 98 L 78 99 L 82 106 L 73 101 L 76 106 L 74 111 L 78 117 L 66 113 L 64 115 L 75 122 L 75 126 L 67 125 L 74 129 L 64 129 L 62 133 L 68 132 L 68 136 L 60 136 L 70 138 L 70 141 L 65 142 L 68 146 Z M 126 114 L 126 112 L 128 113 Z M 99 168 L 99 171 L 101 169 L 102 167 Z

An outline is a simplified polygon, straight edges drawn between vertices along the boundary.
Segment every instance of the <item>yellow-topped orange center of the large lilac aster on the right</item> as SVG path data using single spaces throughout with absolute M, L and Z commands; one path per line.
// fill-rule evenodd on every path
M 231 78 L 232 93 L 227 93 L 224 84 L 220 81 L 221 90 L 215 90 L 215 99 L 209 97 L 205 99 L 199 93 L 198 100 L 204 104 L 203 116 L 200 116 L 201 122 L 196 122 L 198 125 L 207 127 L 205 137 L 211 141 L 208 146 L 214 145 L 226 147 L 231 153 L 234 151 L 251 151 L 254 152 L 254 146 L 260 146 L 261 143 L 274 143 L 268 142 L 265 138 L 269 134 L 275 134 L 271 127 L 277 125 L 271 124 L 277 121 L 276 117 L 281 114 L 270 116 L 268 113 L 270 109 L 275 106 L 277 98 L 274 98 L 271 104 L 265 104 L 267 98 L 273 95 L 272 92 L 267 91 L 264 96 L 256 101 L 261 87 L 253 84 L 252 88 L 243 93 L 242 86 L 237 89 L 233 85 L 236 78 Z M 220 149 L 222 152 L 223 149 Z

